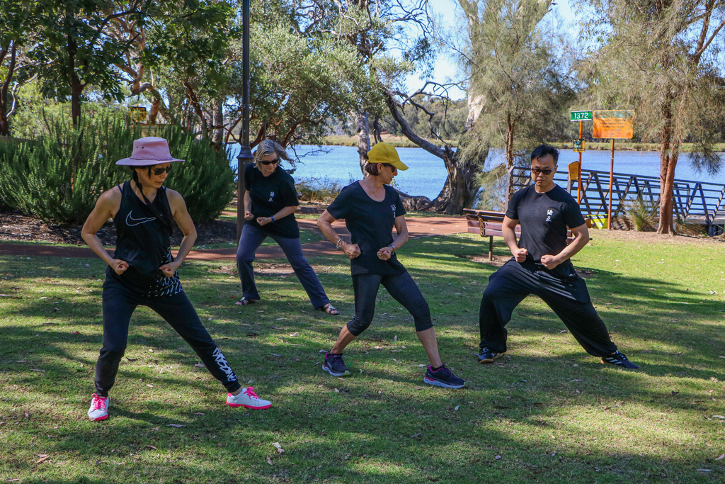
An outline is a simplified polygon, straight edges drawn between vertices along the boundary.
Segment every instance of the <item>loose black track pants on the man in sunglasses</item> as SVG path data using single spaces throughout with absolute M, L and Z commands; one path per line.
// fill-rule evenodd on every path
M 552 308 L 590 355 L 605 356 L 617 350 L 592 305 L 587 284 L 571 264 L 548 271 L 535 263 L 521 264 L 513 259 L 489 277 L 481 299 L 481 348 L 496 353 L 506 351 L 506 324 L 514 308 L 530 294 L 539 296 Z

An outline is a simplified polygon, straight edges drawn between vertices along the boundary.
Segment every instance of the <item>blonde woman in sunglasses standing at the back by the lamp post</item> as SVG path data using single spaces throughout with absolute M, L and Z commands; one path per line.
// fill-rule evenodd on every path
M 242 297 L 236 304 L 249 305 L 260 300 L 252 262 L 257 248 L 267 237 L 272 237 L 282 248 L 312 306 L 335 316 L 340 311 L 331 305 L 320 279 L 302 255 L 299 227 L 294 218 L 299 207 L 297 189 L 294 179 L 281 168 L 280 160 L 290 161 L 291 158 L 276 141 L 265 139 L 254 152 L 254 163 L 244 169 L 244 218 L 247 223 L 241 231 L 236 252 L 242 290 Z

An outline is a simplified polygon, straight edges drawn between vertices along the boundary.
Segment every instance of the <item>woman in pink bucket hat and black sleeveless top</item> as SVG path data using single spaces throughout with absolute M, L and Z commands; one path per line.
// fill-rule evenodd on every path
M 108 418 L 108 393 L 128 342 L 128 326 L 138 305 L 146 305 L 162 316 L 204 366 L 228 390 L 227 404 L 248 409 L 267 409 L 271 403 L 242 388 L 226 358 L 199 320 L 194 306 L 183 292 L 176 269 L 196 240 L 194 222 L 181 194 L 163 183 L 173 162 L 163 138 L 133 141 L 133 153 L 118 160 L 133 171 L 133 180 L 101 194 L 96 207 L 83 224 L 81 236 L 107 264 L 103 284 L 103 347 L 96 363 L 96 393 L 88 418 Z M 116 250 L 110 255 L 96 232 L 112 218 L 117 231 Z M 176 258 L 171 255 L 172 219 L 183 232 Z

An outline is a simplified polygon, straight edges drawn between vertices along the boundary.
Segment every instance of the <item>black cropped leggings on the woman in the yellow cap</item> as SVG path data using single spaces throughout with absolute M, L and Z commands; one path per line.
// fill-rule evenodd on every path
M 415 331 L 425 331 L 433 327 L 431 310 L 426 298 L 423 298 L 418 284 L 407 271 L 394 276 L 381 274 L 357 274 L 352 276 L 352 289 L 355 291 L 355 316 L 347 323 L 347 330 L 354 336 L 368 329 L 375 316 L 375 301 L 380 284 L 389 295 L 410 312 L 415 321 Z

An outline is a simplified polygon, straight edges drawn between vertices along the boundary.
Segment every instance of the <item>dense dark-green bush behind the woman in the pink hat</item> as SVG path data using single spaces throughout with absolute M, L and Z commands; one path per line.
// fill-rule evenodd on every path
M 142 136 L 122 117 L 85 117 L 73 128 L 67 117 L 43 118 L 46 136 L 0 143 L 0 207 L 19 210 L 46 223 L 82 223 L 99 195 L 130 179 L 115 165 L 130 156 Z M 167 186 L 180 192 L 194 221 L 209 221 L 231 201 L 234 173 L 223 151 L 167 127 L 156 136 L 169 141 L 175 165 Z

